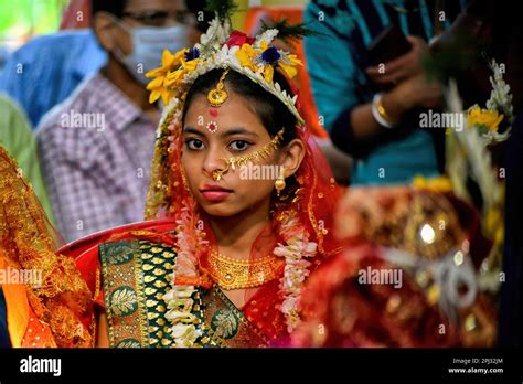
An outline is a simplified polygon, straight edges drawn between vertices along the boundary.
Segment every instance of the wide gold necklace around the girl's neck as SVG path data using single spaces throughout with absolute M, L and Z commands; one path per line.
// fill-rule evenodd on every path
M 209 257 L 211 276 L 225 290 L 263 286 L 278 276 L 282 262 L 274 255 L 254 262 L 236 260 L 217 253 Z

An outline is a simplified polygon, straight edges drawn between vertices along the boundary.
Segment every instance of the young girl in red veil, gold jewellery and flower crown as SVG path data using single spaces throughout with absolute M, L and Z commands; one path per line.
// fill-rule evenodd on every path
M 98 346 L 285 343 L 305 280 L 338 252 L 338 190 L 287 81 L 300 63 L 270 46 L 277 30 L 227 25 L 148 74 L 168 105 L 149 221 L 62 249 L 92 290 Z

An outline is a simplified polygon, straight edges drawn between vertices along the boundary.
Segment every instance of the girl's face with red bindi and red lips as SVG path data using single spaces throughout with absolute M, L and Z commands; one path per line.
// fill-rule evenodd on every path
M 214 132 L 207 128 L 210 122 L 217 127 Z M 281 151 L 273 151 L 250 167 L 230 168 L 220 181 L 213 180 L 213 171 L 227 168 L 224 159 L 253 153 L 273 140 L 258 116 L 235 93 L 228 92 L 218 108 L 211 107 L 206 96 L 196 96 L 185 114 L 183 140 L 188 184 L 207 214 L 225 217 L 265 205 L 268 209 L 277 170 L 285 162 Z

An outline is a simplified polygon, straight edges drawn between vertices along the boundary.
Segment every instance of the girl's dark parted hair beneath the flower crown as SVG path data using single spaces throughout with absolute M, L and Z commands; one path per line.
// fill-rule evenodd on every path
M 184 121 L 185 114 L 194 98 L 199 95 L 206 96 L 211 89 L 216 87 L 223 71 L 224 70 L 210 71 L 194 82 L 185 98 L 182 121 Z M 281 86 L 281 90 L 285 89 L 288 95 L 293 96 L 289 83 L 278 71 L 275 71 L 274 82 Z M 260 85 L 247 76 L 231 70 L 225 77 L 225 89 L 232 90 L 245 99 L 247 106 L 259 117 L 259 120 L 270 137 L 275 137 L 280 129 L 285 127 L 286 129 L 281 140 L 282 145 L 287 145 L 296 138 L 295 127 L 297 119 L 295 115 L 290 113 L 279 98 L 265 90 Z

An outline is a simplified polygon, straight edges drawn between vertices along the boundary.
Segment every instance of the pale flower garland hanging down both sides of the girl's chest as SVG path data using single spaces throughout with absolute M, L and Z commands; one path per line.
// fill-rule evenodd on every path
M 189 281 L 185 278 L 198 279 L 198 257 L 203 255 L 203 249 L 209 244 L 204 239 L 204 233 L 194 225 L 194 218 L 185 206 L 181 217 L 177 220 L 179 252 L 174 271 L 170 275 L 171 289 L 163 296 L 169 309 L 166 318 L 171 322 L 175 348 L 195 346 L 203 335 L 201 320 L 193 314 L 196 287 L 180 284 L 180 280 Z M 280 310 L 287 319 L 287 330 L 290 333 L 300 322 L 299 298 L 303 281 L 310 274 L 308 267 L 311 263 L 305 258 L 316 256 L 317 243 L 309 242 L 309 233 L 299 223 L 296 212 L 291 212 L 282 221 L 280 235 L 286 244 L 278 243 L 274 254 L 285 257 L 286 262 L 279 294 L 284 297 Z

